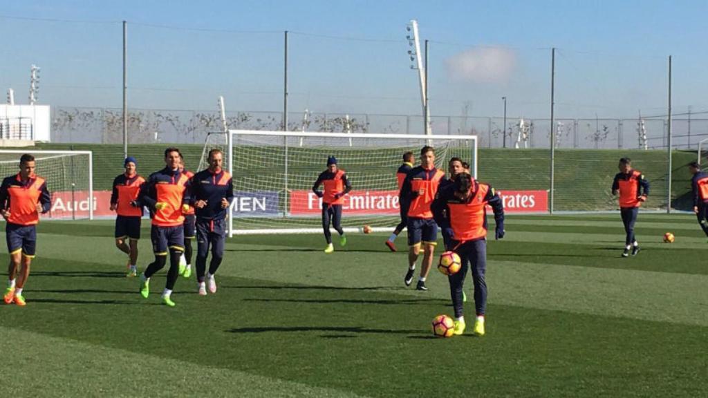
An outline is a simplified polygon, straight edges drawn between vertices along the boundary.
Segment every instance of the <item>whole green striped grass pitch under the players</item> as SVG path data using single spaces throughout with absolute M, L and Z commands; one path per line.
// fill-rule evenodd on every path
M 346 224 L 346 218 L 344 220 Z M 491 221 L 493 224 L 493 220 Z M 139 268 L 152 260 L 147 222 Z M 143 300 L 113 222 L 43 222 L 27 307 L 0 307 L 5 397 L 698 397 L 708 391 L 707 238 L 692 215 L 510 215 L 489 241 L 487 334 L 436 339 L 447 280 L 405 288 L 386 234 L 234 237 L 216 295 L 165 271 Z M 664 244 L 664 232 L 676 241 Z M 404 238 L 397 241 L 400 249 Z M 0 257 L 6 262 L 7 254 Z M 5 273 L 1 273 L 4 280 Z M 472 319 L 472 284 L 466 311 Z M 469 323 L 469 322 L 468 322 Z M 468 332 L 471 327 L 468 327 Z

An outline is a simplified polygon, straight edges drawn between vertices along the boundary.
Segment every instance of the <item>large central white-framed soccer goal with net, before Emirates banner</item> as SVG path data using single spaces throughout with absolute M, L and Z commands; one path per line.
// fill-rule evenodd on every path
M 224 169 L 234 178 L 229 236 L 321 232 L 321 200 L 312 185 L 329 156 L 338 159 L 352 184 L 343 204 L 344 230 L 360 232 L 369 225 L 388 231 L 399 222 L 396 170 L 404 152 L 413 152 L 418 164 L 425 145 L 435 148 L 438 169 L 446 171 L 447 161 L 459 157 L 476 176 L 474 135 L 229 130 L 207 137 L 200 169 L 210 149 L 222 149 Z

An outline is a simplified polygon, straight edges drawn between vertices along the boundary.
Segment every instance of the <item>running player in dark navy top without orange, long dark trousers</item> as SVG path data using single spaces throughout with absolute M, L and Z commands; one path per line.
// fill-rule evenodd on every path
M 190 201 L 196 208 L 197 217 L 197 283 L 199 294 L 217 292 L 214 278 L 224 257 L 226 240 L 226 216 L 234 199 L 234 184 L 231 174 L 222 169 L 224 154 L 219 149 L 209 151 L 209 168 L 192 177 Z M 212 261 L 206 275 L 207 256 L 212 249 Z

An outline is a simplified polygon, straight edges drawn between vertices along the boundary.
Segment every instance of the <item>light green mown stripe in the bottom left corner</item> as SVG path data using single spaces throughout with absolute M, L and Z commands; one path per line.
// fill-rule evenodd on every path
M 7 397 L 360 397 L 271 377 L 0 326 Z M 207 355 L 207 353 L 205 353 Z

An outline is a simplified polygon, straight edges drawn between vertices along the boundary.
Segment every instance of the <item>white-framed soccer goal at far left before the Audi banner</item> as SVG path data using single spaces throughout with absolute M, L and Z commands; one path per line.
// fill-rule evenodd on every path
M 0 149 L 0 176 L 18 174 L 20 157 L 35 157 L 35 174 L 45 178 L 52 194 L 52 207 L 42 218 L 93 220 L 93 154 L 91 151 L 40 151 Z

